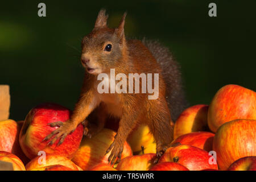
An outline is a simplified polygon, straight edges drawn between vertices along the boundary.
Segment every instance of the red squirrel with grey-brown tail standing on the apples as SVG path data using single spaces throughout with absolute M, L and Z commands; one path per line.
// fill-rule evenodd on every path
M 140 123 L 146 123 L 155 137 L 157 159 L 170 147 L 173 121 L 186 105 L 179 65 L 168 48 L 158 42 L 126 39 L 125 17 L 126 13 L 117 28 L 109 28 L 108 15 L 101 10 L 92 32 L 82 39 L 81 64 L 86 71 L 80 98 L 68 121 L 50 124 L 59 128 L 45 138 L 50 140 L 49 144 L 57 139 L 61 144 L 81 122 L 85 126 L 84 134 L 91 137 L 104 128 L 106 118 L 112 115 L 120 120 L 114 142 L 106 151 L 106 154 L 111 151 L 108 158 L 111 164 L 120 160 L 127 136 Z M 127 76 L 129 73 L 159 73 L 158 98 L 149 100 L 148 93 L 99 93 L 97 76 L 109 75 L 113 68 L 115 74 Z M 90 114 L 97 119 L 89 120 Z

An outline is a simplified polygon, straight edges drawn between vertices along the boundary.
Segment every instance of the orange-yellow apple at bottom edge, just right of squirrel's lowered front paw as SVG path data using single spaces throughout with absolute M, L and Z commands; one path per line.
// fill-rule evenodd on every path
M 148 171 L 154 166 L 156 154 L 132 155 L 122 159 L 118 165 L 118 171 Z

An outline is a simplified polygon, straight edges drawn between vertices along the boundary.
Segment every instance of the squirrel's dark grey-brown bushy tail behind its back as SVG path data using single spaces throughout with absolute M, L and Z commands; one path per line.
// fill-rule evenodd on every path
M 158 41 L 143 39 L 142 43 L 151 51 L 162 68 L 162 75 L 166 82 L 166 101 L 172 121 L 175 122 L 180 113 L 188 106 L 182 86 L 180 66 L 172 57 L 169 49 Z

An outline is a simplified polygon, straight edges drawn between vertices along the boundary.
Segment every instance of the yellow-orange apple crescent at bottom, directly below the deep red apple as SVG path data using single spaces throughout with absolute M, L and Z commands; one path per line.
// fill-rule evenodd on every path
M 61 165 L 68 168 L 71 168 L 73 171 L 82 171 L 82 169 L 77 166 L 75 163 L 73 163 L 70 159 L 66 158 L 65 156 L 55 155 L 55 154 L 47 154 L 46 155 L 46 163 L 45 164 L 39 164 L 39 158 L 42 156 L 37 156 L 36 158 L 32 159 L 29 163 L 26 165 L 27 171 L 32 170 L 39 170 L 43 171 L 44 167 L 49 167 L 53 165 Z M 39 169 L 41 168 L 41 169 Z

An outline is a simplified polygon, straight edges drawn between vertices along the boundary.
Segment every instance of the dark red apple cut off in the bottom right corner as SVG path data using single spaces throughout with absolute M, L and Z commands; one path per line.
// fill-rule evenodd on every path
M 228 171 L 256 171 L 256 156 L 247 156 L 233 162 Z

